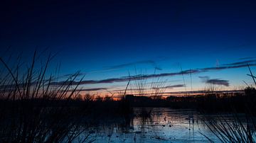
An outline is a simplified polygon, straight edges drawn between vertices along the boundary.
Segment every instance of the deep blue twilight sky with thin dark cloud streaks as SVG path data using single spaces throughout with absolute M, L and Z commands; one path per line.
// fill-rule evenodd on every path
M 122 90 L 131 79 L 234 90 L 252 84 L 247 64 L 256 72 L 256 1 L 1 3 L 0 56 L 57 53 L 49 73 L 59 62 L 62 76 L 80 71 L 84 91 Z

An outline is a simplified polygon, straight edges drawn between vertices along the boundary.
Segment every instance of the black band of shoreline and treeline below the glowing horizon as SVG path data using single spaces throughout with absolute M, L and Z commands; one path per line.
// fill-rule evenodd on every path
M 226 141 L 253 137 L 255 126 L 255 88 L 246 88 L 245 94 L 233 96 L 204 95 L 152 99 L 126 95 L 120 101 L 111 98 L 24 98 L 0 101 L 1 142 L 93 142 L 90 127 L 123 120 L 129 127 L 134 116 L 151 117 L 147 107 L 194 108 L 201 113 L 233 113 L 237 120 L 230 122 L 219 118 L 207 119 L 206 125 Z M 217 106 L 216 106 L 217 105 Z M 133 108 L 139 107 L 139 113 Z M 236 115 L 244 113 L 250 126 Z M 240 125 L 241 124 L 241 125 Z M 226 128 L 229 125 L 229 128 Z M 240 128 L 239 128 L 240 127 Z M 239 130 L 238 130 L 239 129 Z M 233 132 L 230 132 L 233 130 Z M 226 134 L 225 132 L 230 132 Z M 235 133 L 234 135 L 234 132 Z M 80 137 L 79 135 L 86 135 Z M 238 134 L 238 135 L 236 135 Z M 235 136 L 223 138 L 223 135 Z M 248 137 L 247 137 L 248 136 Z M 78 138 L 80 137 L 80 138 Z M 223 140 L 224 141 L 224 140 Z

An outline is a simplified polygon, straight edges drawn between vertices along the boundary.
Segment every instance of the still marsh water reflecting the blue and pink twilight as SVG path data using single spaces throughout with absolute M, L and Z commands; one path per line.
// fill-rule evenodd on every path
M 140 110 L 134 108 L 134 113 Z M 209 142 L 209 139 L 219 142 L 203 121 L 206 117 L 217 117 L 216 114 L 202 115 L 196 110 L 171 108 L 146 110 L 151 111 L 150 118 L 135 115 L 125 122 L 112 119 L 107 124 L 90 127 L 90 137 L 95 138 L 94 142 Z M 233 118 L 229 114 L 224 116 L 228 120 Z

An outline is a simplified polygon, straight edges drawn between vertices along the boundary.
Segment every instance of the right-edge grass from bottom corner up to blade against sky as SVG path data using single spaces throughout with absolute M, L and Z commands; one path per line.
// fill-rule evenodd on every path
M 255 83 L 255 76 L 252 74 L 249 65 L 247 67 L 250 71 L 249 75 Z M 231 107 L 233 108 L 231 120 L 228 120 L 222 115 L 219 115 L 218 118 L 215 119 L 206 118 L 207 127 L 218 137 L 220 142 L 256 142 L 256 89 L 253 86 L 245 88 L 244 99 L 245 101 L 242 101 L 242 103 L 244 103 L 243 108 L 245 108 L 245 110 L 242 116 L 238 114 L 236 108 Z

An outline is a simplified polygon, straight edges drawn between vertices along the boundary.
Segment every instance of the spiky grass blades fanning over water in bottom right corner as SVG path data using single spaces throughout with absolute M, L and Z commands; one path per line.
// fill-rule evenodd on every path
M 206 125 L 220 142 L 255 142 L 255 119 L 242 118 L 235 114 L 231 119 L 219 115 L 215 119 L 206 118 Z

